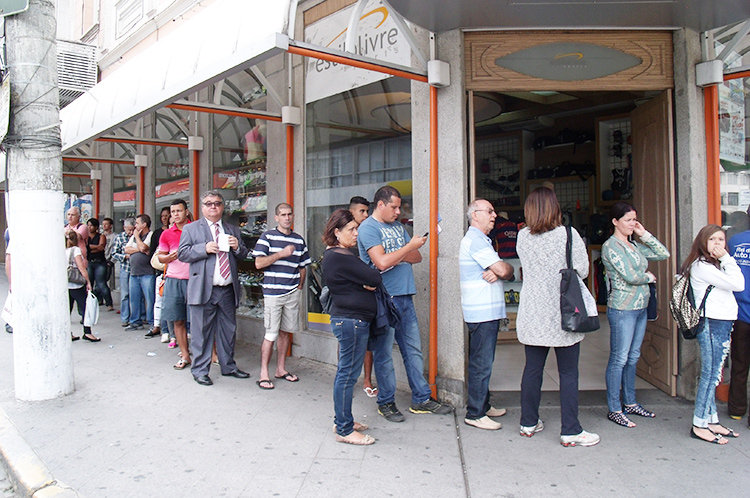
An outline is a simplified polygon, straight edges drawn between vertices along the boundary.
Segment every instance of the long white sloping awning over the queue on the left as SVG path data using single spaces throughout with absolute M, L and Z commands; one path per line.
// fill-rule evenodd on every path
M 60 111 L 62 150 L 286 51 L 289 3 L 217 0 Z

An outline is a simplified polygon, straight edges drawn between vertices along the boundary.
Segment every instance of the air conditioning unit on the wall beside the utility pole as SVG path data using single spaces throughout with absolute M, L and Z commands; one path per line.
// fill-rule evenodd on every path
M 61 109 L 96 85 L 98 69 L 95 45 L 57 40 L 57 84 Z

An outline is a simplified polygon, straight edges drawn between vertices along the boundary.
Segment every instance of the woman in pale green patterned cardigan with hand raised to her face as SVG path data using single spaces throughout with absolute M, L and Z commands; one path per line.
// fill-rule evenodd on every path
M 656 281 L 648 271 L 648 262 L 667 259 L 669 251 L 643 228 L 636 219 L 635 208 L 627 202 L 618 202 L 609 214 L 614 233 L 602 245 L 602 262 L 611 284 L 607 300 L 607 418 L 623 427 L 635 427 L 628 415 L 656 416 L 635 400 L 635 370 L 646 334 L 648 284 Z M 640 243 L 631 240 L 633 234 L 641 239 Z

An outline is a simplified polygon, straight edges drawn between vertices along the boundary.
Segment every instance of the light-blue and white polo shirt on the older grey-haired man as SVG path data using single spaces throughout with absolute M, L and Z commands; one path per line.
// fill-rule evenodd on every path
M 461 239 L 458 268 L 461 274 L 461 307 L 467 323 L 490 322 L 505 318 L 503 282 L 489 283 L 482 273 L 501 261 L 492 241 L 481 230 L 469 227 Z

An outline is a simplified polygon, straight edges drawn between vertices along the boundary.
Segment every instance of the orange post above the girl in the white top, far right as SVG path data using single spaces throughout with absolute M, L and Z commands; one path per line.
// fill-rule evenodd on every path
M 721 226 L 721 186 L 719 164 L 719 87 L 703 89 L 706 120 L 706 186 L 708 189 L 708 222 Z

